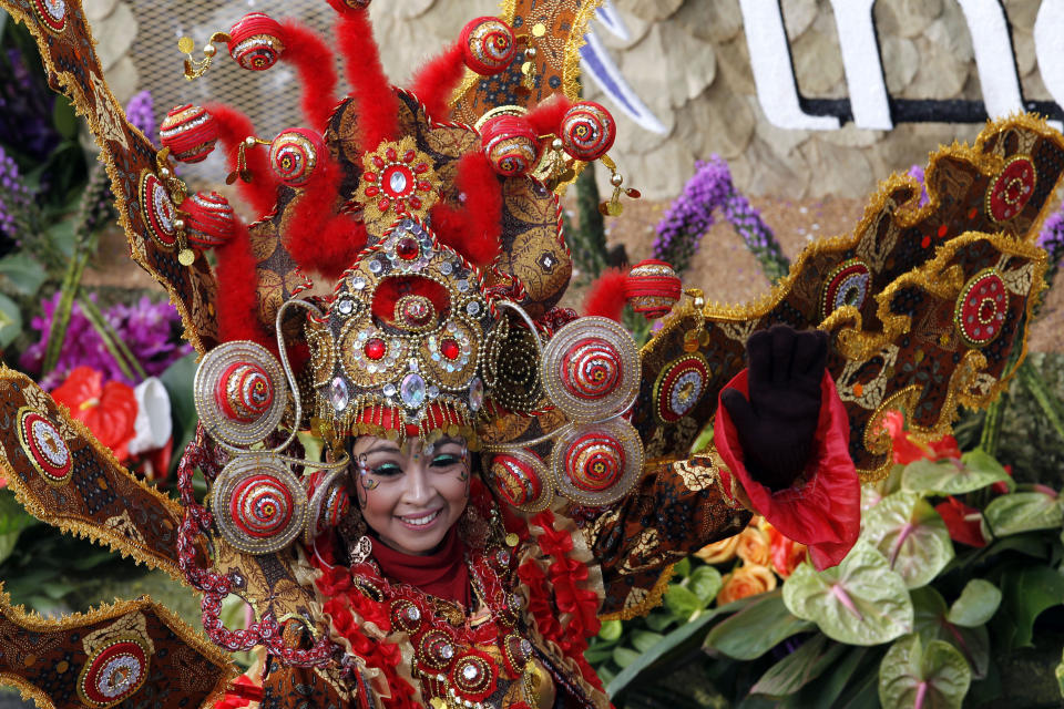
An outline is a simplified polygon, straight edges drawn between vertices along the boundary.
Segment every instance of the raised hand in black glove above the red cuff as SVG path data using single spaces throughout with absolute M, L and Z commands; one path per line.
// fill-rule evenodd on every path
M 746 343 L 749 400 L 725 389 L 720 401 L 732 417 L 750 475 L 776 491 L 790 487 L 812 450 L 820 415 L 820 381 L 828 336 L 775 325 Z

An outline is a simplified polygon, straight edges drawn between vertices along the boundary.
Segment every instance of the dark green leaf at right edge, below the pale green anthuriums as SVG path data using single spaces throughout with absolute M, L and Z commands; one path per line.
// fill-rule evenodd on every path
M 994 616 L 994 637 L 1002 650 L 1031 645 L 1032 628 L 1046 608 L 1064 603 L 1064 576 L 1050 566 L 1001 568 L 1001 608 Z

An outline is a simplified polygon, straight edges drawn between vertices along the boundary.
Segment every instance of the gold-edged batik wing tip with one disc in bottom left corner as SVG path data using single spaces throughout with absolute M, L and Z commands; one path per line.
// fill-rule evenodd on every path
M 235 674 L 228 656 L 150 599 L 44 619 L 0 597 L 0 684 L 38 707 L 207 707 Z

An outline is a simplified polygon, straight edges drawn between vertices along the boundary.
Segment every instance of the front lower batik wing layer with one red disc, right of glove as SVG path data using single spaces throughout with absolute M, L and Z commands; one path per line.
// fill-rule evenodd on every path
M 886 411 L 906 411 L 911 431 L 933 440 L 950 431 L 958 404 L 985 407 L 1006 386 L 1023 359 L 1045 267 L 1045 251 L 1031 244 L 962 234 L 876 296 L 881 330 L 862 330 L 859 319 L 831 323 L 828 367 L 863 480 L 890 469 Z

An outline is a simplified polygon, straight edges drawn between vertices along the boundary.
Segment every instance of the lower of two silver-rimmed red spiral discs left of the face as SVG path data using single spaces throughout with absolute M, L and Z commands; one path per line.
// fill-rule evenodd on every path
M 248 554 L 273 554 L 306 527 L 307 493 L 275 455 L 241 455 L 218 474 L 211 490 L 218 532 Z

